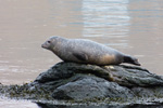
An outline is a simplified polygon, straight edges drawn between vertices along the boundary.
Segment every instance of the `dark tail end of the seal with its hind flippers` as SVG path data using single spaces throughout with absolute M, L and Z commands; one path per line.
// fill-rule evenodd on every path
M 137 66 L 140 66 L 139 62 L 137 58 L 133 57 L 133 56 L 124 56 L 124 63 L 129 63 L 129 64 L 134 64 L 134 65 L 137 65 Z

